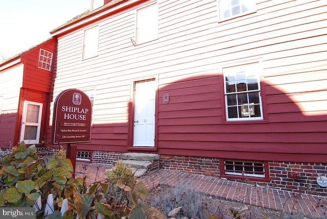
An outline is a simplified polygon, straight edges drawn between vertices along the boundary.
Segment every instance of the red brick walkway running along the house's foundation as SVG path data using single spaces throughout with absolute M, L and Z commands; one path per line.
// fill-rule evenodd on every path
M 77 177 L 83 176 L 83 168 L 85 169 L 86 166 L 85 174 L 89 175 L 89 178 L 86 180 L 87 184 L 97 180 L 104 180 L 105 169 L 111 168 L 111 165 L 85 163 L 77 163 L 76 166 Z M 274 210 L 284 210 L 287 212 L 301 211 L 316 218 L 326 217 L 327 214 L 327 196 L 295 193 L 164 169 L 151 171 L 139 180 L 149 190 L 160 184 L 169 186 L 181 185 L 215 196 L 216 198 Z

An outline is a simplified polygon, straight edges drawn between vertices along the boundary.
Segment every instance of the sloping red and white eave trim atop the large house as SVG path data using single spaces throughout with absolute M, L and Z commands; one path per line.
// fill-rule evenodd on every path
M 92 21 L 99 20 L 105 16 L 108 16 L 108 14 L 119 12 L 121 10 L 124 10 L 126 8 L 129 8 L 133 5 L 136 5 L 141 2 L 145 2 L 146 0 L 121 0 L 118 2 L 113 2 L 114 4 L 108 3 L 107 5 L 104 5 L 100 7 L 99 9 L 93 10 L 93 11 L 86 11 L 83 14 L 79 15 L 80 18 L 74 20 L 74 18 L 71 21 L 68 21 L 66 24 L 63 24 L 62 27 L 58 27 L 52 31 L 50 31 L 51 36 L 57 36 L 60 34 L 64 34 L 65 32 L 80 28 L 81 26 L 90 24 Z M 78 17 L 78 16 L 77 16 Z

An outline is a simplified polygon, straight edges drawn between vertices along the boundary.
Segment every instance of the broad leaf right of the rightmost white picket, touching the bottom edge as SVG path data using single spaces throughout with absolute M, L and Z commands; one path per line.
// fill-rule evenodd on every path
M 93 195 L 80 194 L 74 190 L 74 206 L 79 218 L 85 218 L 85 215 L 91 208 L 93 198 Z

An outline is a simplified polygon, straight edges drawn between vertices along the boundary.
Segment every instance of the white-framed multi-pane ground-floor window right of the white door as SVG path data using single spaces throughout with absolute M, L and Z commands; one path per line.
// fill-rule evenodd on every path
M 259 64 L 223 68 L 227 121 L 263 119 Z

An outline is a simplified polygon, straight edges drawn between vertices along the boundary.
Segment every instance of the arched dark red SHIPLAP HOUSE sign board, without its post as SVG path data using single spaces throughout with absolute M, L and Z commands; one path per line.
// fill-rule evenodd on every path
M 91 141 L 92 104 L 82 91 L 61 92 L 54 105 L 52 144 Z

